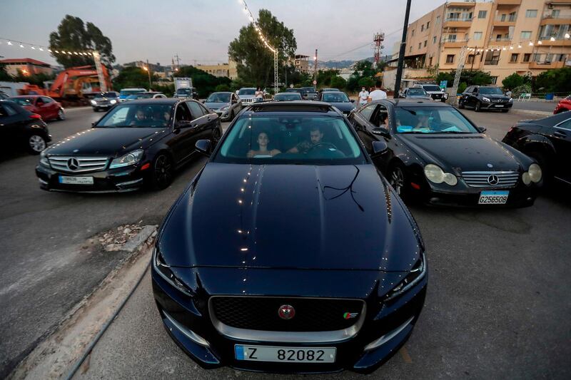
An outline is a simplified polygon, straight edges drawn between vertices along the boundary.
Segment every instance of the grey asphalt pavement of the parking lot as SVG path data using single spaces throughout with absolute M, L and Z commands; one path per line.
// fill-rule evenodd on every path
M 493 138 L 533 117 L 463 112 Z M 50 132 L 60 140 L 101 115 L 70 111 L 68 120 L 49 123 Z M 39 190 L 37 160 L 22 154 L 0 162 L 0 378 L 121 262 L 124 254 L 101 252 L 89 239 L 126 223 L 160 223 L 205 163 L 189 164 L 161 192 L 78 195 Z M 411 207 L 428 247 L 425 309 L 405 349 L 371 377 L 570 378 L 570 211 L 560 193 L 518 210 Z M 178 349 L 161 323 L 147 276 L 97 344 L 85 373 L 76 377 L 273 377 L 205 371 Z

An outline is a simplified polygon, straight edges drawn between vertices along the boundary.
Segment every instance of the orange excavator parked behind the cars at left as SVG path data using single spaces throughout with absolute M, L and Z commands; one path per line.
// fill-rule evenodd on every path
M 111 90 L 111 78 L 107 68 L 101 65 L 103 79 L 108 91 Z M 36 85 L 26 85 L 19 93 L 21 95 L 44 95 L 66 103 L 86 103 L 89 96 L 101 92 L 101 85 L 94 66 L 71 67 L 58 74 L 49 88 Z

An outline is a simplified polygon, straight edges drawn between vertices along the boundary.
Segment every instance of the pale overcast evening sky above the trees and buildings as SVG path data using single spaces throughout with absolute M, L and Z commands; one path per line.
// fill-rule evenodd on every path
M 410 22 L 444 0 L 413 0 Z M 248 0 L 252 14 L 268 9 L 293 29 L 297 53 L 322 61 L 373 56 L 373 34 L 383 31 L 383 54 L 400 41 L 405 0 Z M 183 64 L 228 61 L 228 43 L 248 19 L 238 0 L 0 0 L 0 38 L 47 46 L 66 14 L 91 21 L 111 38 L 117 63 L 146 60 L 163 65 L 178 53 Z M 56 63 L 48 53 L 7 46 L 4 58 L 36 58 Z M 363 46 L 364 45 L 364 46 Z M 360 47 L 363 46 L 363 47 Z M 355 49 L 356 48 L 356 49 Z

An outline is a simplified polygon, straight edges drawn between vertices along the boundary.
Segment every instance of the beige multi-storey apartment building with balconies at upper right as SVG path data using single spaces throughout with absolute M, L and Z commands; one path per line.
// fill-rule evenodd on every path
M 537 76 L 571 66 L 571 0 L 450 1 L 409 24 L 405 77 L 465 68 Z M 416 71 L 416 72 L 415 72 Z

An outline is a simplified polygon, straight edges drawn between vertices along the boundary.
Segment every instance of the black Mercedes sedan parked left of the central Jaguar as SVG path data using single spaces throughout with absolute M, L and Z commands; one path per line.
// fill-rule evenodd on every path
M 167 188 L 190 160 L 197 140 L 222 135 L 218 115 L 192 100 L 142 99 L 120 103 L 94 123 L 41 153 L 40 188 L 122 192 Z

